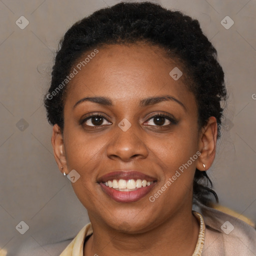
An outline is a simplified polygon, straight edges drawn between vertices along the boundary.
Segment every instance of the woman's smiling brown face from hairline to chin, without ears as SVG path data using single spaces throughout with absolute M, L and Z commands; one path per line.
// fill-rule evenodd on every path
M 183 72 L 177 80 L 174 67 Z M 184 73 L 156 46 L 108 45 L 70 80 L 60 160 L 79 173 L 71 184 L 91 222 L 142 232 L 191 211 L 201 135 Z M 113 179 L 138 187 L 105 185 Z

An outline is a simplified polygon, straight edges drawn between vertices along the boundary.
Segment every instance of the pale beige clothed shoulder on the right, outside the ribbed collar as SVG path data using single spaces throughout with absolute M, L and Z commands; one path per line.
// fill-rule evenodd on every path
M 256 255 L 256 230 L 244 221 L 219 210 L 201 206 L 205 223 L 202 256 Z

